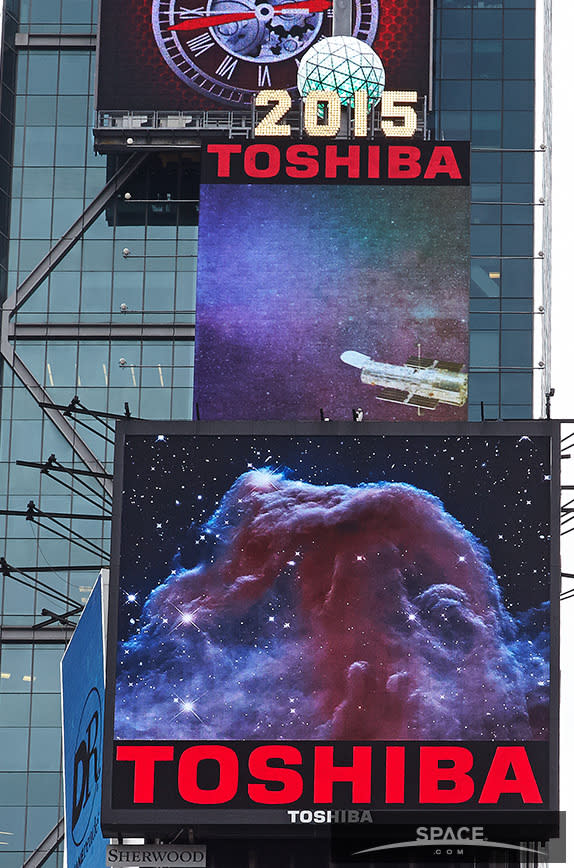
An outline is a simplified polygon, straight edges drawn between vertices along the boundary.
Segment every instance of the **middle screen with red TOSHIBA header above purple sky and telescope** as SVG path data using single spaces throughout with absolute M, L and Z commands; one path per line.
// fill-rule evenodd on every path
M 205 144 L 199 418 L 465 420 L 468 145 Z

